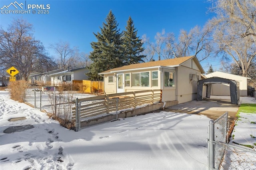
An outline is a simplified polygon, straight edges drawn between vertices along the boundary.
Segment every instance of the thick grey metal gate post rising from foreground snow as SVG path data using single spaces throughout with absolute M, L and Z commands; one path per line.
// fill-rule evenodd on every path
M 214 169 L 214 121 L 209 121 L 208 140 L 208 170 Z

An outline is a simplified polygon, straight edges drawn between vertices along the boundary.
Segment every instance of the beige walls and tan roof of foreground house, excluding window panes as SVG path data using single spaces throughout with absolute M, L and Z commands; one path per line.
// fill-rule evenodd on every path
M 152 71 L 158 72 L 158 86 L 152 86 Z M 171 86 L 171 83 L 170 87 L 164 85 L 165 71 L 169 74 L 174 73 L 174 86 Z M 132 73 L 142 72 L 149 72 L 148 86 L 132 86 Z M 162 101 L 178 100 L 178 103 L 184 103 L 197 99 L 197 80 L 201 79 L 201 73 L 204 73 L 204 70 L 196 57 L 181 57 L 114 68 L 100 73 L 100 75 L 104 75 L 105 93 L 118 93 L 117 75 L 123 74 L 125 77 L 126 73 L 130 74 L 130 86 L 126 86 L 124 79 L 123 92 L 162 89 Z M 198 77 L 198 79 L 190 80 L 190 74 Z M 108 76 L 114 76 L 113 82 L 108 83 Z

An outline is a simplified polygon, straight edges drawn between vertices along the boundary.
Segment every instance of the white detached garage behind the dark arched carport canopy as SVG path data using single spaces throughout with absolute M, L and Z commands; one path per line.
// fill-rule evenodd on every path
M 223 73 L 215 71 L 213 73 L 205 75 L 207 78 L 210 77 L 221 77 L 225 79 L 235 80 L 239 82 L 239 94 L 240 96 L 247 96 L 247 80 L 248 77 L 242 77 L 240 75 L 234 75 L 229 73 Z M 211 95 L 230 96 L 229 84 L 212 84 Z

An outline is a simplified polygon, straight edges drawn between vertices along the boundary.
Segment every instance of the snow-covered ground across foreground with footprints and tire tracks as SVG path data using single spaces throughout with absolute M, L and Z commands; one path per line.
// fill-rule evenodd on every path
M 26 119 L 8 121 L 14 117 Z M 0 168 L 205 170 L 209 121 L 203 115 L 162 111 L 74 132 L 0 91 Z M 21 125 L 34 128 L 3 132 Z

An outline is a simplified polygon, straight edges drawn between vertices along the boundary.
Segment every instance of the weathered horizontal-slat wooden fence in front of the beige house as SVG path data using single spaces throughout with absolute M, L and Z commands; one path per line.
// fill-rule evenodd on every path
M 102 116 L 103 114 L 117 113 L 118 110 L 132 108 L 144 104 L 162 102 L 162 90 L 144 90 L 126 93 L 114 93 L 83 99 L 76 99 L 72 108 L 72 120 L 76 121 L 76 131 L 80 129 L 82 121 L 89 117 Z

